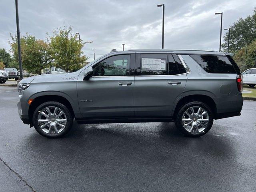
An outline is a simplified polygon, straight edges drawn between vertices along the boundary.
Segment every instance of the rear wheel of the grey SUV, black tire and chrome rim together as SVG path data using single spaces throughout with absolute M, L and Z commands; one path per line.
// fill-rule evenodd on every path
M 203 102 L 189 102 L 179 109 L 175 124 L 182 134 L 200 137 L 212 128 L 212 110 Z

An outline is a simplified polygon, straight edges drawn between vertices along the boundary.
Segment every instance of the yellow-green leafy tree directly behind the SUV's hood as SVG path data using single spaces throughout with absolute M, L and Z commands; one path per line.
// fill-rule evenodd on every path
M 88 58 L 81 56 L 84 44 L 78 40 L 76 34 L 71 33 L 72 27 L 57 28 L 53 36 L 48 35 L 50 52 L 57 67 L 66 72 L 75 71 L 82 67 L 82 63 Z

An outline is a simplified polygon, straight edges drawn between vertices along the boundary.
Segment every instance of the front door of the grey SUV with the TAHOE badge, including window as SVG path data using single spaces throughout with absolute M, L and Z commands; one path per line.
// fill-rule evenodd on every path
M 110 56 L 92 66 L 89 80 L 79 78 L 78 102 L 84 118 L 134 117 L 134 75 L 130 76 L 134 62 L 133 54 Z

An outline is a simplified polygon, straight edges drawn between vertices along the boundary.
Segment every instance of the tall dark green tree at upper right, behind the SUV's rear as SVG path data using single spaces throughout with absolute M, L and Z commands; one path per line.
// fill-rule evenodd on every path
M 229 52 L 236 53 L 238 50 L 246 46 L 246 43 L 251 43 L 256 39 L 256 8 L 252 16 L 247 16 L 245 19 L 240 18 L 230 26 L 230 46 Z M 228 48 L 228 32 L 224 35 L 224 43 L 222 50 Z

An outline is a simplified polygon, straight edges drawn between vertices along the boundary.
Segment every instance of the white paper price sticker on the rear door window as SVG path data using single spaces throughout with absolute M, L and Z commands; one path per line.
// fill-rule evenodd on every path
M 166 61 L 157 58 L 142 58 L 142 70 L 166 70 Z

